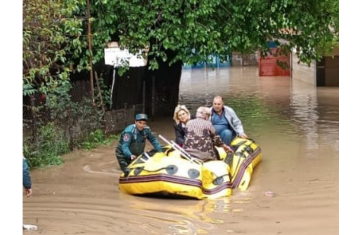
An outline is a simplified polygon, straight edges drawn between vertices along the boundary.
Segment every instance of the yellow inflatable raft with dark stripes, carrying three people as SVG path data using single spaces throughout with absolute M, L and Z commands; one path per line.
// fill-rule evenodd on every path
M 119 189 L 127 194 L 177 198 L 214 199 L 244 191 L 262 151 L 251 139 L 235 138 L 234 153 L 216 147 L 218 160 L 203 162 L 192 157 L 173 141 L 164 152 L 154 150 L 138 156 L 119 177 Z

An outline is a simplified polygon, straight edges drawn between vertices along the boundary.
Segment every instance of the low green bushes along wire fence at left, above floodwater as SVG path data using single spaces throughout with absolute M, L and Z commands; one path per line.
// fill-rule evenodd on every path
M 56 86 L 55 86 L 56 85 Z M 46 102 L 26 106 L 32 119 L 23 120 L 23 149 L 30 167 L 61 164 L 60 155 L 75 148 L 91 149 L 99 144 L 109 144 L 102 124 L 103 113 L 86 95 L 72 97 L 72 84 L 63 80 L 41 89 L 46 92 Z

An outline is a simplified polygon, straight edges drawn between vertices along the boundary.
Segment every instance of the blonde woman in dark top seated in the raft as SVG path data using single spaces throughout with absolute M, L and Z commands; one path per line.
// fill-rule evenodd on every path
M 178 104 L 174 109 L 173 120 L 174 120 L 174 132 L 175 132 L 175 142 L 182 146 L 185 137 L 185 126 L 186 123 L 191 119 L 191 114 L 186 108 L 185 105 Z

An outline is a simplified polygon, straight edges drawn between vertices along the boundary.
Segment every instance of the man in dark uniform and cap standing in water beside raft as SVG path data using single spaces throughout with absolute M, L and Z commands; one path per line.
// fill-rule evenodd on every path
M 132 160 L 144 152 L 146 139 L 151 142 L 157 152 L 163 152 L 161 144 L 147 125 L 147 120 L 147 114 L 137 114 L 134 124 L 127 126 L 119 135 L 115 153 L 122 170 L 125 170 Z

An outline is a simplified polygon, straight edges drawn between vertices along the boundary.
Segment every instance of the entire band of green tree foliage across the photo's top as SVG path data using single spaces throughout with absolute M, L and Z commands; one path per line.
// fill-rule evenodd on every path
M 23 2 L 23 91 L 29 84 L 67 79 L 70 63 L 88 68 L 104 58 L 111 40 L 135 52 L 149 49 L 150 67 L 167 61 L 203 61 L 211 54 L 267 49 L 269 40 L 297 49 L 309 63 L 339 38 L 338 0 L 94 0 L 89 1 L 92 52 L 88 51 L 86 0 Z M 74 60 L 78 58 L 79 60 Z

